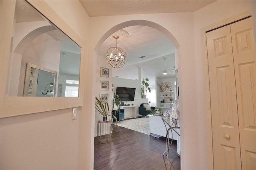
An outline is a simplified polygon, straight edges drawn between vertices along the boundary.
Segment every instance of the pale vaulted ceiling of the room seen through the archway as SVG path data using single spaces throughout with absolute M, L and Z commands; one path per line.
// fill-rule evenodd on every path
M 175 77 L 175 48 L 162 32 L 147 26 L 130 26 L 122 30 L 128 32 L 129 37 L 126 40 L 117 39 L 117 46 L 126 51 L 126 62 L 124 67 L 112 69 L 112 77 L 139 79 L 139 68 L 141 68 L 142 77 L 145 76 L 153 82 L 155 77 Z M 122 37 L 119 32 L 116 32 L 102 43 L 98 54 L 104 56 L 103 59 L 108 48 L 115 46 L 114 35 Z M 140 58 L 141 56 L 145 57 Z M 166 70 L 173 69 L 167 75 L 163 75 L 163 57 L 166 58 Z

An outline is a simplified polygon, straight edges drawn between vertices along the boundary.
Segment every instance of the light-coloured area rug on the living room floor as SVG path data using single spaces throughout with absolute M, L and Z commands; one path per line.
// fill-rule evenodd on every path
M 128 119 L 128 120 L 120 121 L 119 123 L 117 123 L 117 126 L 135 130 L 137 132 L 141 132 L 144 134 L 150 134 L 148 117 L 141 117 L 136 119 Z

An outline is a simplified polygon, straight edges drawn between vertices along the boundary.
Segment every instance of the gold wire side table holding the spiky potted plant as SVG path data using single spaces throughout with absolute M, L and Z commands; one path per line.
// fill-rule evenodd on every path
M 111 138 L 111 121 L 98 121 L 97 136 L 100 143 L 107 143 Z

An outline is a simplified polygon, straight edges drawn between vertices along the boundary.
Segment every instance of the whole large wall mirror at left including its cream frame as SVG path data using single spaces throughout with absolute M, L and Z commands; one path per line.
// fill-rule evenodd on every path
M 0 3 L 1 118 L 82 106 L 82 39 L 45 1 Z

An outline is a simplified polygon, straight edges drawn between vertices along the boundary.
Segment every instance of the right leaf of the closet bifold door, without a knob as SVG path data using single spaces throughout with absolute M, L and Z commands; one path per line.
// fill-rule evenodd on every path
M 252 20 L 247 18 L 230 25 L 242 169 L 256 169 L 256 54 Z

